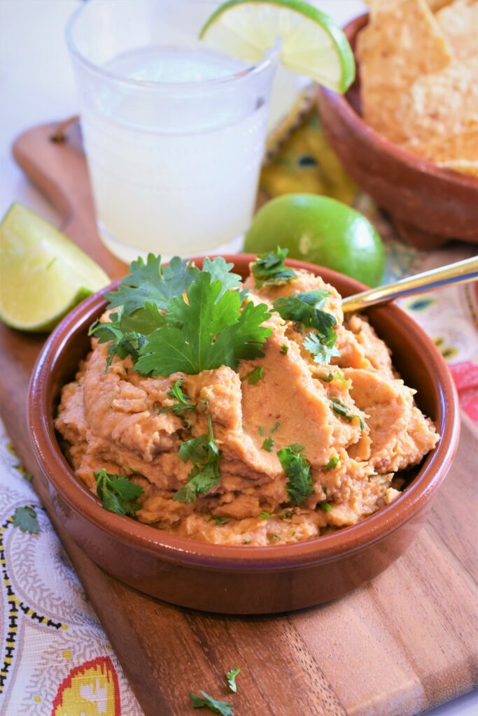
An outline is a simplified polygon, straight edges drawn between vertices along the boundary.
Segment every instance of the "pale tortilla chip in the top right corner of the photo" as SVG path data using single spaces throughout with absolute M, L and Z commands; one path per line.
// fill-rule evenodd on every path
M 456 0 L 437 12 L 436 19 L 457 59 L 478 54 L 478 0 Z

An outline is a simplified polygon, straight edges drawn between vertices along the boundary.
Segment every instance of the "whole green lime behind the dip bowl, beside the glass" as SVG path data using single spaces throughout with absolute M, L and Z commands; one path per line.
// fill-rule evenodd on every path
M 262 253 L 276 246 L 289 258 L 319 263 L 368 286 L 381 284 L 383 242 L 363 214 L 326 196 L 286 194 L 259 209 L 246 234 L 244 251 Z

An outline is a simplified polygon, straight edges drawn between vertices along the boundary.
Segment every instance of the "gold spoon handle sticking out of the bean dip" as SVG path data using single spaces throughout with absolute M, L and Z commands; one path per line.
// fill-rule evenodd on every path
M 478 279 L 478 256 L 465 258 L 464 261 L 449 263 L 439 269 L 424 271 L 423 274 L 409 276 L 387 286 L 378 286 L 377 289 L 362 291 L 360 294 L 348 296 L 343 299 L 343 311 L 361 311 L 368 306 L 384 304 L 387 301 L 402 299 L 404 296 L 422 294 L 425 291 L 441 289 L 451 284 L 468 284 Z

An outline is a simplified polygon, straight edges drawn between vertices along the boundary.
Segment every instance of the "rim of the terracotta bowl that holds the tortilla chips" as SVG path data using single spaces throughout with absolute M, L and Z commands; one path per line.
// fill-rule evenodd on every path
M 343 32 L 348 37 L 349 42 L 355 38 L 360 29 L 368 24 L 369 16 L 370 13 L 365 12 L 350 20 L 343 27 Z M 357 67 L 359 66 L 359 63 L 357 63 Z M 318 92 L 325 98 L 325 101 L 328 102 L 329 105 L 334 107 L 335 112 L 340 115 L 341 120 L 360 127 L 360 133 L 366 137 L 366 140 L 373 145 L 377 151 L 391 155 L 396 161 L 407 165 L 410 170 L 424 172 L 437 180 L 445 180 L 458 186 L 476 188 L 478 191 L 478 178 L 472 175 L 454 172 L 446 167 L 440 167 L 438 164 L 431 162 L 431 160 L 420 157 L 395 144 L 387 139 L 387 137 L 381 135 L 380 132 L 374 130 L 373 127 L 363 120 L 363 117 L 360 117 L 360 115 L 355 112 L 345 95 L 339 95 L 337 92 L 333 92 L 332 89 L 327 89 L 327 87 L 319 87 Z

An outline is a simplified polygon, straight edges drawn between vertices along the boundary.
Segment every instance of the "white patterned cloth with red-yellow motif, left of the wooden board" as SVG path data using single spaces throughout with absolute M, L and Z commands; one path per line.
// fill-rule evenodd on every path
M 0 422 L 0 714 L 143 716 L 29 477 Z

